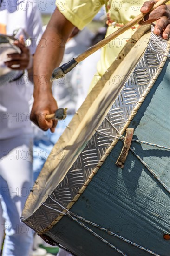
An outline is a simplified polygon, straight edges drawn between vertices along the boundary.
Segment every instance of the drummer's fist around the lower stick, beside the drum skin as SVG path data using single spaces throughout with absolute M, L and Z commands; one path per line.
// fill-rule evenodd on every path
M 44 93 L 36 94 L 30 119 L 44 131 L 50 129 L 51 132 L 54 132 L 57 120 L 46 120 L 45 117 L 48 114 L 54 113 L 57 109 L 57 103 L 52 96 L 52 92 L 46 91 Z

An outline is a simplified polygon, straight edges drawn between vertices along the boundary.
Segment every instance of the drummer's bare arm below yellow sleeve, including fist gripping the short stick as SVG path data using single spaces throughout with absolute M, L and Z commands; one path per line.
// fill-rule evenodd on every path
M 56 120 L 45 119 L 45 115 L 55 113 L 58 108 L 52 96 L 50 78 L 63 58 L 65 43 L 73 28 L 74 25 L 56 9 L 35 53 L 34 103 L 30 119 L 45 131 L 50 128 L 54 132 L 57 124 Z

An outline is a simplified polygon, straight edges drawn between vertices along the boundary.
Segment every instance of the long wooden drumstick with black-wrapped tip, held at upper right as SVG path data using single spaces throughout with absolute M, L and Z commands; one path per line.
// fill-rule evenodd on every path
M 159 0 L 153 6 L 152 10 L 156 9 L 160 5 L 166 4 L 168 1 L 169 0 Z M 103 47 L 106 44 L 108 44 L 111 40 L 115 39 L 120 34 L 124 33 L 124 31 L 126 31 L 127 29 L 133 27 L 140 20 L 142 20 L 144 18 L 144 16 L 147 15 L 147 14 L 148 13 L 144 13 L 144 14 L 140 13 L 136 18 L 134 18 L 133 20 L 129 21 L 123 27 L 120 27 L 114 33 L 110 34 L 109 36 L 107 36 L 106 38 L 104 38 L 103 40 L 98 42 L 97 44 L 95 44 L 92 47 L 90 47 L 89 49 L 87 49 L 84 53 L 78 55 L 78 57 L 76 57 L 75 59 L 72 59 L 71 61 L 63 64 L 62 66 L 55 68 L 54 71 L 52 72 L 52 77 L 51 77 L 50 81 L 52 82 L 54 79 L 58 79 L 58 78 L 64 77 L 65 74 L 67 74 L 69 71 L 71 71 L 79 62 L 83 61 L 89 55 L 93 54 L 98 49 L 100 49 L 101 47 Z

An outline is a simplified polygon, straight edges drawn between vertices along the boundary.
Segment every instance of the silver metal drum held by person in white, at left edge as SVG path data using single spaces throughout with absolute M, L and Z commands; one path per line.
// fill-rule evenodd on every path
M 13 70 L 4 64 L 4 61 L 8 60 L 7 54 L 21 53 L 20 48 L 13 44 L 16 40 L 14 37 L 0 34 L 0 85 L 14 81 L 24 74 L 22 70 Z

